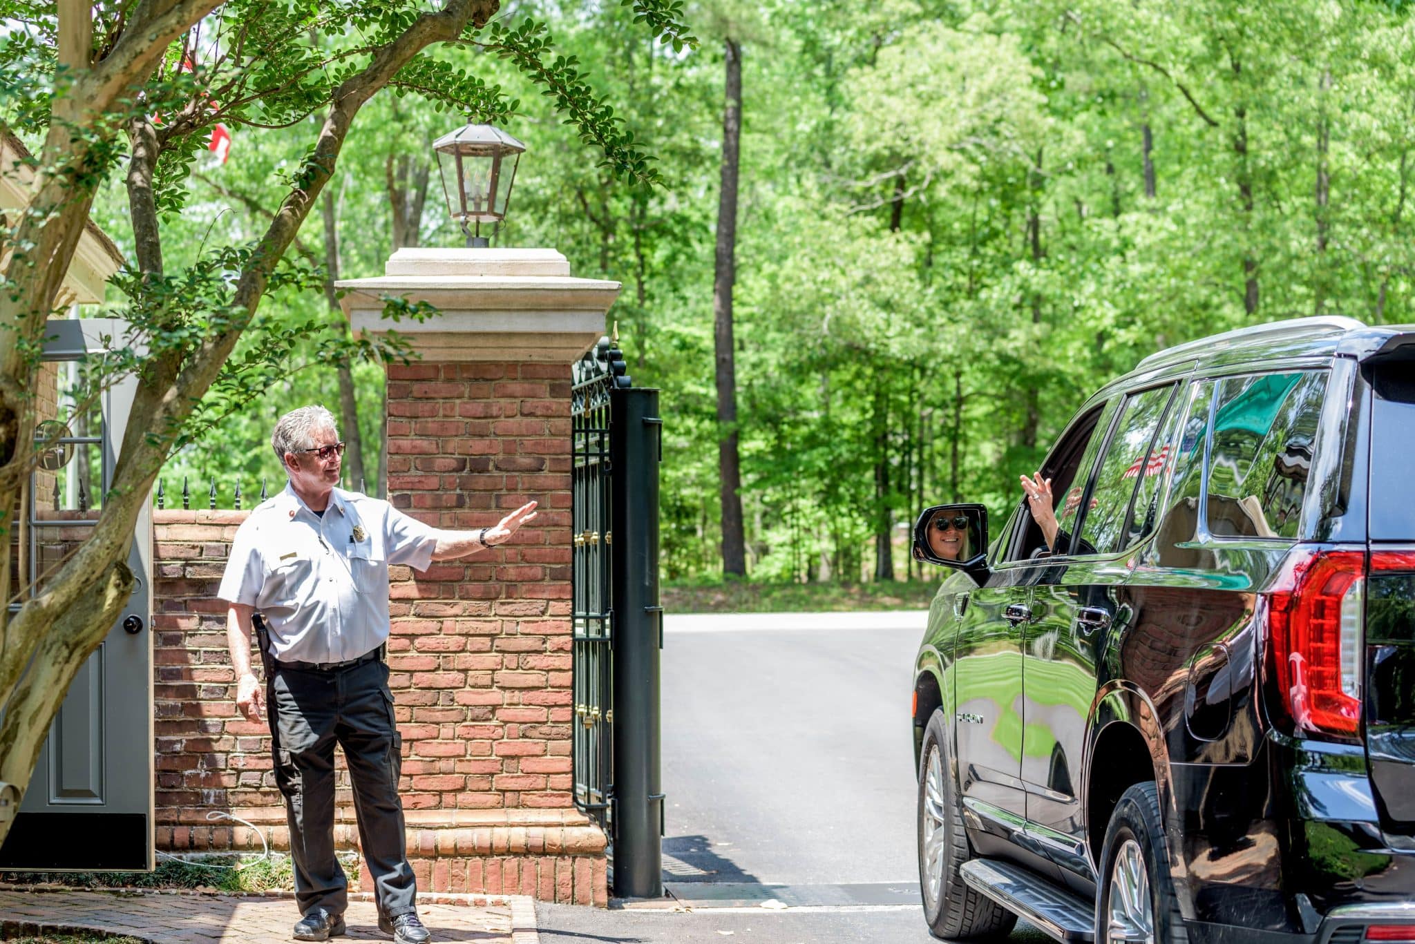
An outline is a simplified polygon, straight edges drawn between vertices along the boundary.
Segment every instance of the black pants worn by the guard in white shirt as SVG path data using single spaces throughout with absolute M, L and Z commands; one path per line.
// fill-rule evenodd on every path
M 348 907 L 348 882 L 334 858 L 335 743 L 348 761 L 359 844 L 379 911 L 388 917 L 413 911 L 417 886 L 398 798 L 402 737 L 393 725 L 388 667 L 379 660 L 328 672 L 277 665 L 266 696 L 300 913 L 323 907 L 342 914 Z

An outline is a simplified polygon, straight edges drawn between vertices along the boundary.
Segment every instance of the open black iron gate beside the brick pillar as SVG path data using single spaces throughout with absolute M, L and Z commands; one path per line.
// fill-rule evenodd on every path
M 572 382 L 574 804 L 599 821 L 614 893 L 662 894 L 658 391 L 634 389 L 601 338 Z

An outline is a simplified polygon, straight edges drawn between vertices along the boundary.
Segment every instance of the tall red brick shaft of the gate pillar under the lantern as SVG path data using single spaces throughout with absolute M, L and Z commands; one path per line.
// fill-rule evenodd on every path
M 412 689 L 420 761 L 405 802 L 573 807 L 569 365 L 389 367 L 388 493 L 439 528 L 539 502 L 507 545 L 393 575 L 391 685 Z

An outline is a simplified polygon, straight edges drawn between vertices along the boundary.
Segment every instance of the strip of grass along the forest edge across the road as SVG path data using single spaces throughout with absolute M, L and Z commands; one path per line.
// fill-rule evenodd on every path
M 938 580 L 906 583 L 669 583 L 659 590 L 668 613 L 833 613 L 927 610 Z

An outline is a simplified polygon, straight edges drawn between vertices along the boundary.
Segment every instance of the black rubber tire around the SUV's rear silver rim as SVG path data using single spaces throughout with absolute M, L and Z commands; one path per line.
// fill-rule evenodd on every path
M 1133 845 L 1132 845 L 1133 844 Z M 1159 812 L 1159 791 L 1153 781 L 1139 783 L 1121 794 L 1105 829 L 1105 845 L 1101 848 L 1101 883 L 1097 889 L 1095 941 L 1136 940 L 1125 936 L 1125 920 L 1112 923 L 1112 904 L 1133 916 L 1133 909 L 1125 907 L 1125 896 L 1115 896 L 1116 859 L 1125 856 L 1129 866 L 1143 865 L 1145 883 L 1149 890 L 1150 926 L 1156 944 L 1187 944 L 1189 930 L 1179 913 L 1179 899 L 1174 897 L 1174 882 L 1170 877 L 1169 846 L 1165 845 L 1165 824 Z M 1119 873 L 1125 873 L 1122 866 Z M 1133 872 L 1132 872 L 1133 873 Z M 1112 927 L 1114 924 L 1114 927 Z M 1133 930 L 1133 926 L 1131 926 Z

